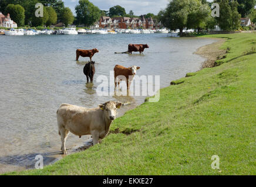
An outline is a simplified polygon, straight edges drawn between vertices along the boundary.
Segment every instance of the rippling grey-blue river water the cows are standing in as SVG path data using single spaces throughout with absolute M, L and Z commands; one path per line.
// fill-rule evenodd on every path
M 163 88 L 199 70 L 204 58 L 194 51 L 214 41 L 167 34 L 0 36 L 0 173 L 34 168 L 38 154 L 45 164 L 62 157 L 56 123 L 62 103 L 86 108 L 106 101 L 131 103 L 119 110 L 119 116 L 143 103 L 146 96 L 114 95 L 111 81 L 105 91 L 109 95 L 99 96 L 100 77 L 109 78 L 114 65 L 137 65 L 139 76 L 160 75 L 153 85 Z M 143 54 L 114 54 L 127 51 L 129 43 L 147 43 L 150 48 Z M 89 58 L 76 61 L 76 49 L 93 48 L 99 50 L 93 57 L 95 80 L 86 84 L 83 67 Z M 79 150 L 87 138 L 69 134 L 68 152 Z

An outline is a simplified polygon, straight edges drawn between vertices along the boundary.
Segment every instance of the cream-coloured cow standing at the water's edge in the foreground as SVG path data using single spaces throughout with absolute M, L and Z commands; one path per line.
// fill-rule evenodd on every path
M 116 118 L 116 109 L 123 104 L 106 102 L 98 108 L 88 109 L 80 106 L 62 104 L 57 110 L 57 122 L 61 137 L 62 154 L 66 154 L 66 138 L 69 131 L 76 136 L 91 134 L 93 145 L 99 143 L 109 133 L 110 124 Z

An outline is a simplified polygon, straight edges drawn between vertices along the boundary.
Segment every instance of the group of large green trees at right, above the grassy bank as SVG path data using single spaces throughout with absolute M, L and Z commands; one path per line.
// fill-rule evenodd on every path
M 220 15 L 212 16 L 211 5 L 220 6 Z M 218 25 L 222 30 L 238 30 L 240 18 L 250 17 L 256 21 L 256 0 L 171 0 L 167 8 L 159 12 L 163 25 L 171 30 L 213 29 Z

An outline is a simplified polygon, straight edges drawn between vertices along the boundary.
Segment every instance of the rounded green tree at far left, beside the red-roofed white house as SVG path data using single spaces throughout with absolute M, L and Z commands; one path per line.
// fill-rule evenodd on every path
M 25 9 L 21 5 L 9 4 L 5 8 L 5 14 L 10 14 L 10 17 L 18 26 L 23 26 L 25 21 Z

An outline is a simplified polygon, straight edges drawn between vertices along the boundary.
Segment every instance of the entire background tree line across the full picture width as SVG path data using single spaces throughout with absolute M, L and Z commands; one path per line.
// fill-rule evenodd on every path
M 36 18 L 35 5 L 44 5 L 43 18 Z M 220 5 L 220 17 L 211 16 L 211 5 Z M 240 27 L 241 17 L 250 17 L 256 22 L 256 11 L 254 9 L 256 0 L 171 0 L 166 9 L 157 15 L 147 13 L 144 18 L 153 18 L 161 21 L 169 29 L 213 29 L 218 25 L 223 30 L 237 30 Z M 133 11 L 126 10 L 116 5 L 109 11 L 100 10 L 88 0 L 79 0 L 75 7 L 76 17 L 72 11 L 64 6 L 62 0 L 1 0 L 0 11 L 10 13 L 11 18 L 18 26 L 50 26 L 62 22 L 65 26 L 72 23 L 75 25 L 91 26 L 100 19 L 100 16 L 113 17 L 140 17 L 134 15 Z

